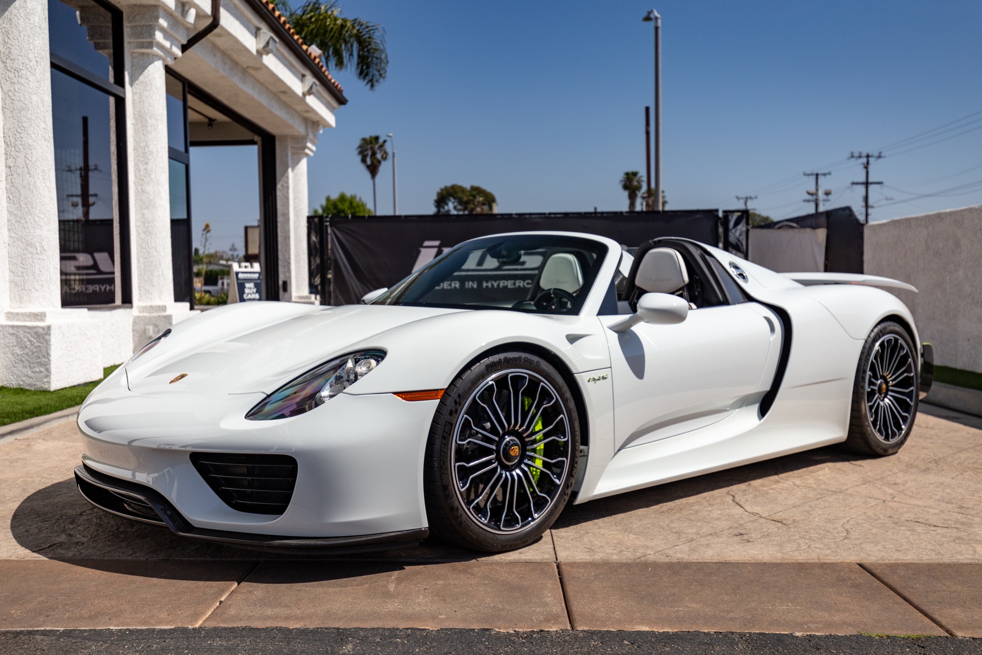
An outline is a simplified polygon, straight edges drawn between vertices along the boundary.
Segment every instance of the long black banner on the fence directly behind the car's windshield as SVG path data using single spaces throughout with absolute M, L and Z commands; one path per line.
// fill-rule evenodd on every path
M 324 304 L 351 304 L 391 287 L 438 254 L 468 239 L 505 232 L 585 232 L 627 247 L 659 237 L 682 237 L 718 246 L 716 210 L 575 214 L 483 214 L 329 217 L 330 293 Z M 316 234 L 311 226 L 308 234 Z M 312 236 L 312 234 L 310 235 Z M 311 239 L 311 242 L 314 240 Z M 309 243 L 309 242 L 308 242 Z M 312 251 L 311 251 L 312 254 Z M 328 259 L 321 246 L 320 262 Z M 321 271 L 324 268 L 320 268 Z M 321 288 L 325 288 L 321 276 Z M 330 297 L 330 302 L 326 298 Z

